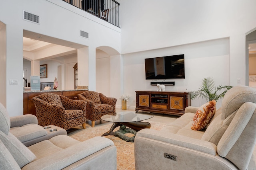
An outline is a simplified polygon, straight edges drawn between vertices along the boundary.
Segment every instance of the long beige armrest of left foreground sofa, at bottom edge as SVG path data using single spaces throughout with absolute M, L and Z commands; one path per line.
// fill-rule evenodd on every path
M 113 141 L 104 137 L 94 137 L 44 158 L 35 160 L 24 166 L 22 170 L 63 169 L 107 147 L 114 147 Z

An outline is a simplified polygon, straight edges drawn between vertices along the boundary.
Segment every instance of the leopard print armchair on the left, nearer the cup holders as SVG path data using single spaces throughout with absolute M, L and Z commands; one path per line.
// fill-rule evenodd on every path
M 86 101 L 71 100 L 53 93 L 44 93 L 32 100 L 36 106 L 39 125 L 56 125 L 68 130 L 82 124 L 86 129 Z

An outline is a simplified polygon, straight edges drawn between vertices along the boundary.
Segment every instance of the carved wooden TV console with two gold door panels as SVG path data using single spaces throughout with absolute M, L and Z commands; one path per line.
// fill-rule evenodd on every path
M 187 106 L 191 106 L 188 92 L 136 91 L 136 111 L 183 115 Z

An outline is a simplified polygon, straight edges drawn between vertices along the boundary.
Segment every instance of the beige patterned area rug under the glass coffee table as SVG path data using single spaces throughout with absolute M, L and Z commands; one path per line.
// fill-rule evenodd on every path
M 151 129 L 160 130 L 164 127 L 164 123 L 158 123 L 154 121 L 148 121 L 151 124 Z M 102 126 L 95 126 L 87 129 L 77 129 L 72 132 L 68 132 L 68 136 L 78 140 L 85 141 L 92 137 L 101 136 L 105 132 L 109 131 L 112 123 L 108 123 Z M 119 130 L 116 127 L 114 131 Z M 128 137 L 132 137 L 133 134 L 126 134 Z M 104 136 L 114 142 L 117 149 L 117 170 L 135 170 L 134 162 L 134 143 L 126 142 L 115 136 Z

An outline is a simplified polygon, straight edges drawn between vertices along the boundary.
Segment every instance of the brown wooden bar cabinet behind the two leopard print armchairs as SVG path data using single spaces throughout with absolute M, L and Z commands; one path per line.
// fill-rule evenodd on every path
M 70 90 L 70 91 L 40 91 L 40 92 L 24 92 L 23 93 L 23 114 L 32 114 L 36 115 L 36 107 L 32 100 L 35 96 L 38 96 L 43 93 L 54 93 L 58 95 L 66 96 L 67 98 L 70 98 L 72 100 L 79 100 L 78 94 L 82 92 L 86 92 L 88 90 Z

